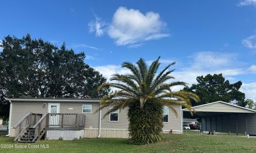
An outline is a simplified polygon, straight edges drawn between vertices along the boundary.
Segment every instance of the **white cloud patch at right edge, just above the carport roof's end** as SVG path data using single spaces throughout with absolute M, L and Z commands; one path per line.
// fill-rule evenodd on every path
M 253 99 L 256 102 L 256 82 L 243 83 L 241 91 L 245 93 L 246 98 Z

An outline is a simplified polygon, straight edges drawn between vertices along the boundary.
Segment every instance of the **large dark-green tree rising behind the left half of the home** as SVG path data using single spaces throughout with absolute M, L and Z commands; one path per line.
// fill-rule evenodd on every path
M 21 39 L 7 36 L 1 47 L 0 107 L 5 109 L 2 115 L 8 114 L 6 97 L 99 98 L 109 91 L 97 91 L 106 79 L 84 63 L 84 53 L 76 54 L 65 44 L 58 48 L 27 35 Z

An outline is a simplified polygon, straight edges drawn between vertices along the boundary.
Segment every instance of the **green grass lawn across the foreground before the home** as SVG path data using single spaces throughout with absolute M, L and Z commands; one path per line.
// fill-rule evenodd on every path
M 49 148 L 0 148 L 0 152 L 256 152 L 256 138 L 167 134 L 162 142 L 151 145 L 130 145 L 128 139 L 89 139 L 75 141 L 42 140 L 37 143 L 15 143 L 13 138 L 0 137 L 0 145 L 49 145 Z

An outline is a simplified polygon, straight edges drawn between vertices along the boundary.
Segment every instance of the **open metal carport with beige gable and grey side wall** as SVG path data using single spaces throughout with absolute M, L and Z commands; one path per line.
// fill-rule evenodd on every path
M 252 109 L 223 101 L 192 108 L 195 110 L 193 115 L 188 109 L 182 109 L 182 118 L 201 118 L 202 131 L 256 135 L 256 111 Z

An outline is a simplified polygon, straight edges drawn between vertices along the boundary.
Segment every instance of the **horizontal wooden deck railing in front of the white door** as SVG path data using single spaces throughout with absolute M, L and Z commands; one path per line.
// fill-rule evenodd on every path
M 85 115 L 77 113 L 48 113 L 48 126 L 51 128 L 82 128 Z

